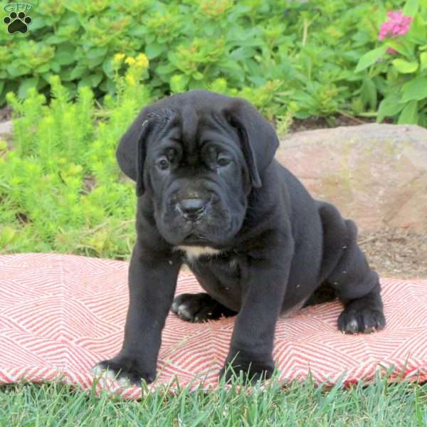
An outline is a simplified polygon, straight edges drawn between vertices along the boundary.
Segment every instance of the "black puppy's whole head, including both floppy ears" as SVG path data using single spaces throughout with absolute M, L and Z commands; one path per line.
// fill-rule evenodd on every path
M 241 228 L 277 147 L 273 127 L 249 102 L 194 90 L 144 108 L 117 161 L 137 196 L 152 198 L 164 239 L 221 248 Z

